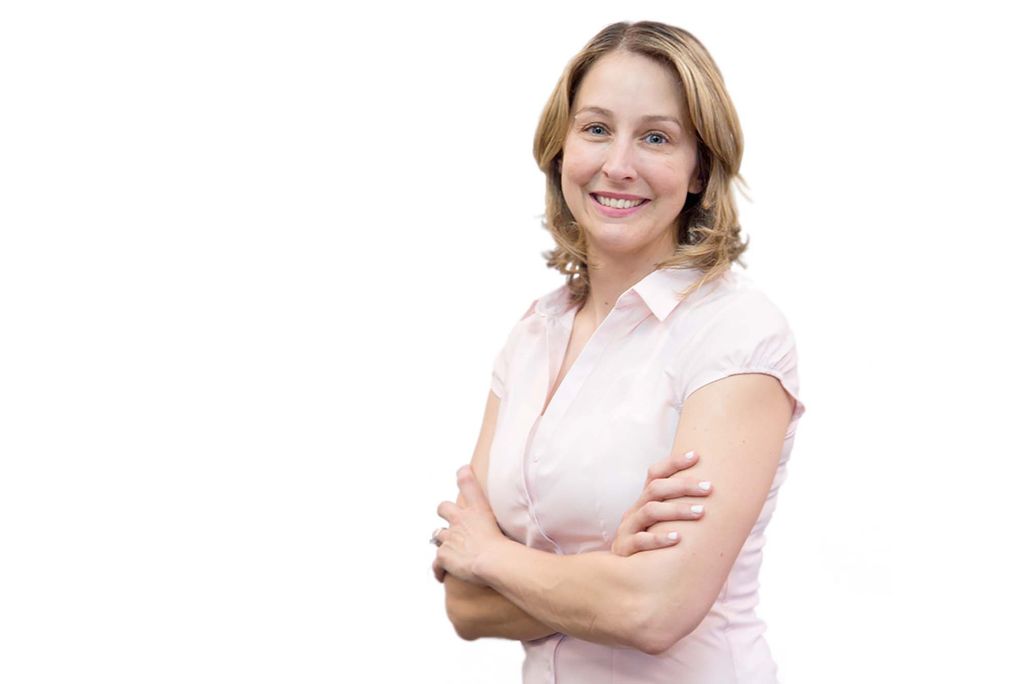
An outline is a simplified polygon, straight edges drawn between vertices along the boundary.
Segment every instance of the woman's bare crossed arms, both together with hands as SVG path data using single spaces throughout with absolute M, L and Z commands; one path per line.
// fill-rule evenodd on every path
M 671 456 L 699 453 L 686 479 L 715 483 L 715 505 L 701 524 L 684 525 L 678 502 L 655 498 L 657 486 L 667 491 L 668 475 L 648 478 L 651 485 L 660 482 L 645 489 L 652 503 L 641 497 L 627 513 L 617 549 L 568 556 L 508 540 L 493 522 L 477 476 L 485 481 L 499 402 L 488 397 L 472 470 L 460 471 L 458 502 L 438 507 L 450 527 L 435 572 L 447 573 L 445 605 L 458 634 L 530 640 L 558 632 L 660 653 L 695 629 L 754 526 L 778 465 L 794 405 L 779 382 L 761 374 L 729 376 L 684 403 Z M 644 522 L 646 532 L 638 528 Z M 680 541 L 666 546 L 669 532 Z M 614 553 L 644 545 L 656 552 Z

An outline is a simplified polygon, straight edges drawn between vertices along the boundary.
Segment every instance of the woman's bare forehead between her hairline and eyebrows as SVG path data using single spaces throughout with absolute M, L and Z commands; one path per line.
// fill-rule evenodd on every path
M 600 108 L 616 116 L 675 116 L 685 113 L 678 75 L 669 67 L 634 52 L 610 52 L 590 68 L 577 90 L 575 114 Z

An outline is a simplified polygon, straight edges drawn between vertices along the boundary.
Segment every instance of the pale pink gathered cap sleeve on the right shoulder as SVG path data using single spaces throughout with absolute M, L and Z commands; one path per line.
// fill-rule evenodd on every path
M 683 367 L 683 402 L 716 380 L 760 373 L 778 379 L 796 400 L 791 427 L 804 415 L 793 331 L 778 307 L 760 291 L 739 293 L 711 319 L 696 336 Z

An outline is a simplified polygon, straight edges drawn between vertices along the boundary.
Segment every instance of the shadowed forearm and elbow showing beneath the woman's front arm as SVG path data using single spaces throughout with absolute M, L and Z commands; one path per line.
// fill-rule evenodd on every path
M 444 578 L 444 605 L 449 619 L 463 639 L 532 641 L 555 632 L 494 589 L 452 574 Z

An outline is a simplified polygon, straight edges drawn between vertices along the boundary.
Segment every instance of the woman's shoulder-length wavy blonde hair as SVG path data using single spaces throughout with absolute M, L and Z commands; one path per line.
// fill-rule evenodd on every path
M 587 72 L 614 50 L 641 54 L 678 75 L 686 117 L 697 141 L 697 174 L 701 189 L 690 194 L 679 214 L 676 249 L 657 268 L 695 267 L 702 276 L 682 297 L 725 273 L 746 249 L 740 241 L 739 215 L 732 182 L 745 186 L 739 175 L 743 135 L 736 111 L 718 67 L 707 48 L 690 33 L 657 22 L 618 23 L 605 27 L 587 43 L 562 72 L 548 98 L 534 137 L 534 158 L 547 176 L 544 226 L 556 247 L 544 254 L 548 266 L 566 275 L 572 301 L 590 292 L 587 238 L 572 217 L 561 187 L 561 159 L 573 99 Z

